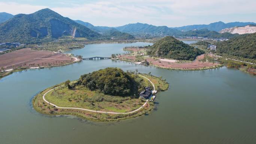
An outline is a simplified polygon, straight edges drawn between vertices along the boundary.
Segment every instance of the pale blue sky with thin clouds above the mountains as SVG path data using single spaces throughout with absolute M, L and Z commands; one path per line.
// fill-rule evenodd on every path
M 211 22 L 256 22 L 256 0 L 0 0 L 13 15 L 49 8 L 95 26 L 131 23 L 180 27 Z

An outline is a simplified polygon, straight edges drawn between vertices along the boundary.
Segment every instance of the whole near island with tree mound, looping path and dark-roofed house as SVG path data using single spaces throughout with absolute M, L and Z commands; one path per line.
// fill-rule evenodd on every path
M 168 87 L 162 77 L 109 67 L 45 89 L 33 98 L 33 107 L 43 114 L 122 120 L 148 113 L 156 93 Z

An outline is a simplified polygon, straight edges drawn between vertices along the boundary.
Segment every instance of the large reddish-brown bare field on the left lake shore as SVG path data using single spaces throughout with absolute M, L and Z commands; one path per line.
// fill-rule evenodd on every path
M 75 59 L 70 58 L 65 54 L 25 48 L 0 55 L 0 67 L 4 67 L 6 69 L 19 67 L 42 67 L 62 65 L 74 60 Z

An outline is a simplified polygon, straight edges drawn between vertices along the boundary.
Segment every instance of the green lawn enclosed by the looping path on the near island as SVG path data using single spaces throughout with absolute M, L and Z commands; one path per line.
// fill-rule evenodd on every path
M 152 84 L 144 77 L 133 76 L 140 83 L 138 91 L 147 86 L 152 87 Z M 156 79 L 156 77 L 151 79 L 154 80 L 153 78 Z M 154 81 L 157 82 L 157 80 Z M 138 99 L 138 96 L 134 98 L 133 95 L 125 97 L 104 95 L 98 91 L 91 91 L 84 86 L 75 86 L 71 90 L 67 86 L 62 86 L 46 94 L 45 99 L 59 107 L 77 107 L 111 112 L 129 112 L 144 104 L 144 100 Z

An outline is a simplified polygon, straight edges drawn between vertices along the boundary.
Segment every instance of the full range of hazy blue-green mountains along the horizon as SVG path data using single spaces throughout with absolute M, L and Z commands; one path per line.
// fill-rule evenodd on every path
M 254 22 L 214 22 L 209 25 L 188 25 L 183 27 L 170 28 L 167 26 L 155 26 L 150 24 L 135 23 L 120 27 L 94 26 L 89 22 L 73 21 L 65 18 L 50 9 L 42 9 L 29 15 L 18 14 L 5 15 L 0 23 L 0 42 L 22 42 L 38 43 L 51 41 L 63 36 L 85 37 L 89 40 L 96 39 L 119 39 L 128 40 L 136 37 L 207 37 L 211 39 L 230 39 L 236 34 L 217 33 L 223 28 L 240 27 L 241 25 L 256 25 Z

